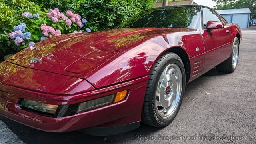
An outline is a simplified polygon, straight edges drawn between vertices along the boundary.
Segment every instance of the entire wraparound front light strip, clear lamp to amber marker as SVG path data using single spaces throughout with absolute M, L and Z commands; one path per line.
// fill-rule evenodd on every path
M 44 104 L 44 103 L 36 102 L 33 100 L 19 98 L 17 107 L 34 114 L 58 118 L 58 117 L 72 116 L 80 112 L 86 112 L 88 110 L 93 110 L 96 108 L 100 108 L 102 106 L 120 102 L 126 98 L 127 94 L 128 94 L 128 90 L 123 90 L 121 92 L 117 92 L 115 94 L 111 94 L 101 98 L 96 98 L 93 100 L 88 100 L 88 101 L 80 102 L 76 104 L 60 105 L 60 106 L 52 105 L 52 104 Z

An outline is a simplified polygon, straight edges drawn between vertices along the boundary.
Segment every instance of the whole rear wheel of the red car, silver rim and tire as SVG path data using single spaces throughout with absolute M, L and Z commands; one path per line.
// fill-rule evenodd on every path
M 230 57 L 224 62 L 216 66 L 217 70 L 220 72 L 234 72 L 238 63 L 239 57 L 239 40 L 237 37 L 234 39 L 233 49 Z

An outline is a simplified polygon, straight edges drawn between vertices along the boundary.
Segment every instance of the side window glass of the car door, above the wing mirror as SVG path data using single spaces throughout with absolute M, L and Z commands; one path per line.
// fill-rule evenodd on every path
M 220 20 L 220 17 L 214 10 L 211 10 L 209 8 L 203 8 L 203 17 L 204 17 L 204 25 L 203 28 L 206 28 L 207 22 L 208 21 L 217 21 L 217 22 L 222 22 Z

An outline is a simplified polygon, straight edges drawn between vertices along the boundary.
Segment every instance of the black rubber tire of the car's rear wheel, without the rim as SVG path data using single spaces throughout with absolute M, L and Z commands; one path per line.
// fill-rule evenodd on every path
M 239 59 L 239 40 L 237 37 L 234 38 L 234 43 L 233 43 L 233 47 L 232 47 L 232 52 L 230 54 L 230 57 L 225 60 L 224 62 L 220 63 L 218 66 L 216 66 L 217 70 L 220 72 L 234 72 L 236 70 L 237 64 L 234 67 L 233 66 L 233 52 L 234 52 L 234 46 L 238 44 L 238 59 Z M 238 60 L 237 60 L 238 62 Z

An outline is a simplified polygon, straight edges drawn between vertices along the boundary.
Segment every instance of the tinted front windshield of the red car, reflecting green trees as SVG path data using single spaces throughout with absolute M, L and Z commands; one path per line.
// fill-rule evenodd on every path
M 129 18 L 117 28 L 201 28 L 201 8 L 180 7 L 145 10 Z

